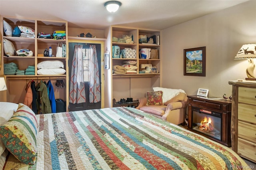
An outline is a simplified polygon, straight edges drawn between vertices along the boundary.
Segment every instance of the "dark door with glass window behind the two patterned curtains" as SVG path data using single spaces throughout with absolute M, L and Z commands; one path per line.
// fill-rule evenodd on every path
M 72 61 L 74 57 L 74 47 L 75 45 L 82 45 L 82 53 L 83 53 L 83 73 L 84 73 L 84 86 L 85 86 L 85 95 L 86 95 L 86 102 L 85 103 L 69 103 L 69 111 L 81 111 L 81 110 L 89 110 L 89 109 L 100 109 L 101 108 L 101 101 L 97 103 L 90 103 L 89 101 L 89 83 L 90 81 L 90 74 L 92 73 L 92 70 L 90 70 L 90 45 L 96 46 L 96 53 L 97 53 L 97 59 L 98 59 L 98 69 L 99 69 L 99 75 L 101 75 L 101 44 L 97 43 L 68 43 L 69 47 L 69 60 L 68 60 L 68 67 L 69 67 L 69 80 L 71 78 L 71 68 L 72 68 Z M 101 84 L 101 79 L 100 79 Z M 69 88 L 70 88 L 70 81 L 69 81 Z M 70 91 L 70 89 L 69 89 Z M 101 92 L 102 93 L 102 92 Z

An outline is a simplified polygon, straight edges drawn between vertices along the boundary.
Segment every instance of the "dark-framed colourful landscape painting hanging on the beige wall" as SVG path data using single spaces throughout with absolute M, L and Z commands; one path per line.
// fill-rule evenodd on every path
M 205 77 L 206 46 L 184 49 L 184 75 Z

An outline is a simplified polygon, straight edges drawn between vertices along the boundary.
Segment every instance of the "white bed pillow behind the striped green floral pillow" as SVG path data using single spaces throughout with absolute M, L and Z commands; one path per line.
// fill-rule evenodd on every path
M 0 126 L 4 125 L 6 122 L 9 121 L 9 119 L 12 117 L 12 115 L 16 112 L 18 109 L 18 104 L 16 103 L 10 103 L 10 102 L 0 102 Z M 0 155 L 5 150 L 4 143 L 0 139 Z

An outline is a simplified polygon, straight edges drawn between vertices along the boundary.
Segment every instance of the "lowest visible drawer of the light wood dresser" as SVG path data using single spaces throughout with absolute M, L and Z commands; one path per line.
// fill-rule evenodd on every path
M 238 138 L 237 153 L 249 160 L 256 161 L 256 144 Z

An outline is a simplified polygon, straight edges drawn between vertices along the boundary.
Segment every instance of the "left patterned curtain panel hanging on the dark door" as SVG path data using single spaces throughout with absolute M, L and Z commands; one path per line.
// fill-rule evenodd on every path
M 86 102 L 82 49 L 83 45 L 75 45 L 69 92 L 69 102 L 73 104 Z

